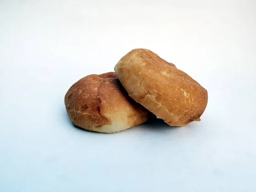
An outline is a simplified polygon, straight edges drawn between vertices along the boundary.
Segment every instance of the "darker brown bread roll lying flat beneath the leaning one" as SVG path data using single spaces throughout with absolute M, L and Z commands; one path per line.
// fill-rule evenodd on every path
M 114 133 L 148 119 L 148 111 L 128 96 L 114 72 L 77 81 L 67 91 L 65 105 L 71 122 L 90 131 Z

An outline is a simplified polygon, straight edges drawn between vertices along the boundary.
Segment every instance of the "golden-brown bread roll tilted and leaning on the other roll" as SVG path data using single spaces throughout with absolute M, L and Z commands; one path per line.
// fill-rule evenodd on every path
M 134 49 L 116 64 L 129 96 L 171 126 L 200 121 L 207 90 L 174 64 L 148 49 Z

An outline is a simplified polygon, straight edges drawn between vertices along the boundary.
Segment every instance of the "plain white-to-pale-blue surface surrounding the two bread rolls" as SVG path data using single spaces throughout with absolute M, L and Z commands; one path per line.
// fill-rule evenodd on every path
M 0 1 L 1 192 L 254 192 L 256 2 Z M 208 90 L 201 122 L 71 125 L 64 95 L 147 48 Z

